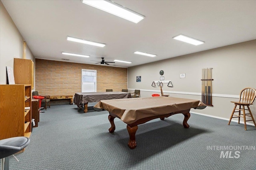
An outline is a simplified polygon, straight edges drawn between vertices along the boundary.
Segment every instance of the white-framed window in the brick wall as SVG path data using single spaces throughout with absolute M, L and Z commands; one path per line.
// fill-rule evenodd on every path
M 82 92 L 96 92 L 97 71 L 82 69 Z

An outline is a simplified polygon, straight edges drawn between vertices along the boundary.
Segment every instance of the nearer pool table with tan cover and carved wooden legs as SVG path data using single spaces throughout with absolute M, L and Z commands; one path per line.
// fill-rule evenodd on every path
M 187 123 L 190 117 L 190 109 L 204 109 L 205 104 L 199 100 L 172 98 L 166 96 L 150 97 L 150 98 L 129 98 L 116 100 L 100 100 L 94 107 L 104 109 L 109 112 L 108 120 L 110 121 L 110 129 L 113 133 L 116 129 L 114 119 L 118 117 L 127 124 L 127 130 L 130 136 L 128 146 L 130 149 L 136 147 L 135 134 L 138 125 L 146 123 L 152 119 L 165 117 L 182 113 L 184 115 L 183 126 L 188 128 Z

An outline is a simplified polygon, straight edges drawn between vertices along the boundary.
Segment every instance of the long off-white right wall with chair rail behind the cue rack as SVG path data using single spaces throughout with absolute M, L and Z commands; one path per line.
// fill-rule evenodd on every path
M 141 97 L 151 97 L 156 92 L 160 94 L 160 88 L 151 84 L 160 80 L 159 72 L 164 70 L 164 80 L 171 80 L 174 86 L 170 88 L 164 84 L 165 94 L 201 100 L 202 68 L 213 68 L 213 107 L 191 111 L 229 119 L 234 107 L 230 101 L 238 101 L 243 88 L 256 88 L 256 40 L 130 67 L 128 89 L 131 92 L 140 89 Z M 181 73 L 185 73 L 186 78 L 180 78 Z M 136 82 L 136 76 L 141 76 L 141 82 Z M 250 108 L 256 118 L 256 104 Z

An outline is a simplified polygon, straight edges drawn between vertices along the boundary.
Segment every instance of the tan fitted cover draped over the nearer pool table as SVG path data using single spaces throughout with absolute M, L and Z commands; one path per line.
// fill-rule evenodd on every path
M 94 107 L 105 109 L 110 114 L 118 116 L 124 123 L 130 124 L 145 117 L 164 115 L 191 108 L 204 109 L 206 105 L 199 100 L 160 96 L 100 100 Z

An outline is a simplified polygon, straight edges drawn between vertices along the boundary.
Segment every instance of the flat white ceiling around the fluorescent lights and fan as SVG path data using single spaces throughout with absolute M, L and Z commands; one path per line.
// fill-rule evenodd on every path
M 145 16 L 139 23 L 98 10 L 81 0 L 2 2 L 38 59 L 95 64 L 105 57 L 105 61 L 132 62 L 110 66 L 130 67 L 256 39 L 256 0 L 113 0 Z M 205 43 L 195 46 L 172 38 L 179 34 Z M 67 36 L 106 46 L 67 41 Z M 90 57 L 62 55 L 62 51 Z M 157 57 L 136 55 L 135 51 Z

